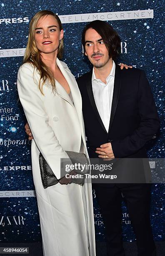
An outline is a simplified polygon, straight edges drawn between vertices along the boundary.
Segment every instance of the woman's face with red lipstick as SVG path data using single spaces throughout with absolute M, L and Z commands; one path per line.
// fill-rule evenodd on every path
M 34 38 L 37 48 L 45 54 L 57 52 L 63 33 L 55 17 L 52 15 L 41 17 L 35 28 Z

